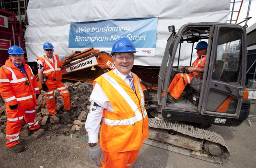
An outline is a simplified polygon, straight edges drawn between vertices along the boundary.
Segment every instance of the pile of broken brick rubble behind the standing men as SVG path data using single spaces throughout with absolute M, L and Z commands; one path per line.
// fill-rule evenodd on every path
M 56 132 L 68 132 L 74 133 L 79 131 L 81 134 L 86 134 L 84 128 L 87 114 L 90 110 L 90 94 L 92 93 L 92 83 L 64 83 L 70 92 L 70 106 L 71 111 L 74 113 L 69 115 L 64 109 L 64 101 L 60 93 L 56 90 L 54 91 L 55 102 L 56 102 L 56 111 L 57 114 L 51 116 L 48 112 L 46 105 L 46 99 L 44 96 L 44 91 L 41 90 L 37 101 L 38 106 L 36 106 L 36 120 L 41 126 L 49 128 L 49 130 Z M 5 104 L 1 101 L 0 107 L 0 132 L 5 133 L 6 128 L 6 107 Z M 26 123 L 23 123 L 23 128 L 27 128 Z M 25 134 L 27 130 L 24 129 Z M 24 134 L 23 132 L 23 134 Z M 22 132 L 21 132 L 22 133 Z M 43 133 L 43 131 L 42 131 Z M 40 134 L 40 133 L 39 133 Z

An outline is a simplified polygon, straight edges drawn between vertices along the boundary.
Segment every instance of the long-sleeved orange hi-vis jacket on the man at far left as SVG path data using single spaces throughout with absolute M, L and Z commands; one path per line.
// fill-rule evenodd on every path
M 6 104 L 6 111 L 10 111 L 10 105 L 18 104 L 17 110 L 28 109 L 38 105 L 36 94 L 40 94 L 38 84 L 32 69 L 24 64 L 24 69 L 28 75 L 22 74 L 20 69 L 8 59 L 4 66 L 0 68 L 0 93 Z M 25 85 L 29 82 L 29 85 Z

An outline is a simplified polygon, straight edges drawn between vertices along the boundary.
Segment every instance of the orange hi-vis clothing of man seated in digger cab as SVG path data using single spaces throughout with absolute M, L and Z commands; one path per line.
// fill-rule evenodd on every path
M 205 61 L 206 61 L 206 55 L 202 57 L 202 60 L 201 60 L 201 57 L 197 57 L 197 59 L 192 63 L 192 66 L 198 67 L 198 68 L 204 68 Z M 193 71 L 193 73 L 195 77 L 198 77 L 198 72 Z M 182 78 L 184 79 L 184 81 Z M 173 78 L 170 86 L 168 87 L 168 92 L 176 100 L 179 99 L 186 85 L 188 85 L 188 83 L 190 83 L 192 79 L 193 79 L 192 73 L 189 73 L 189 74 L 177 73 Z

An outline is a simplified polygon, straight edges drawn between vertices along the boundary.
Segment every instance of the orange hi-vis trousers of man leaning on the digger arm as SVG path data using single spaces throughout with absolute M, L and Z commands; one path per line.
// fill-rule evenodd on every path
M 45 94 L 46 97 L 46 105 L 48 107 L 48 111 L 50 115 L 56 115 L 56 103 L 54 97 L 54 90 L 56 89 L 64 100 L 64 109 L 70 110 L 70 94 L 66 86 L 61 81 L 52 81 L 50 79 L 46 79 L 45 82 L 48 87 L 48 92 Z

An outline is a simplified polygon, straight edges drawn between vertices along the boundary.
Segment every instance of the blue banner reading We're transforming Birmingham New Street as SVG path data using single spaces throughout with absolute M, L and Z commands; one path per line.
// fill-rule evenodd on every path
M 136 55 L 155 55 L 157 18 L 70 23 L 69 48 L 100 49 L 108 53 L 116 40 L 127 37 Z

